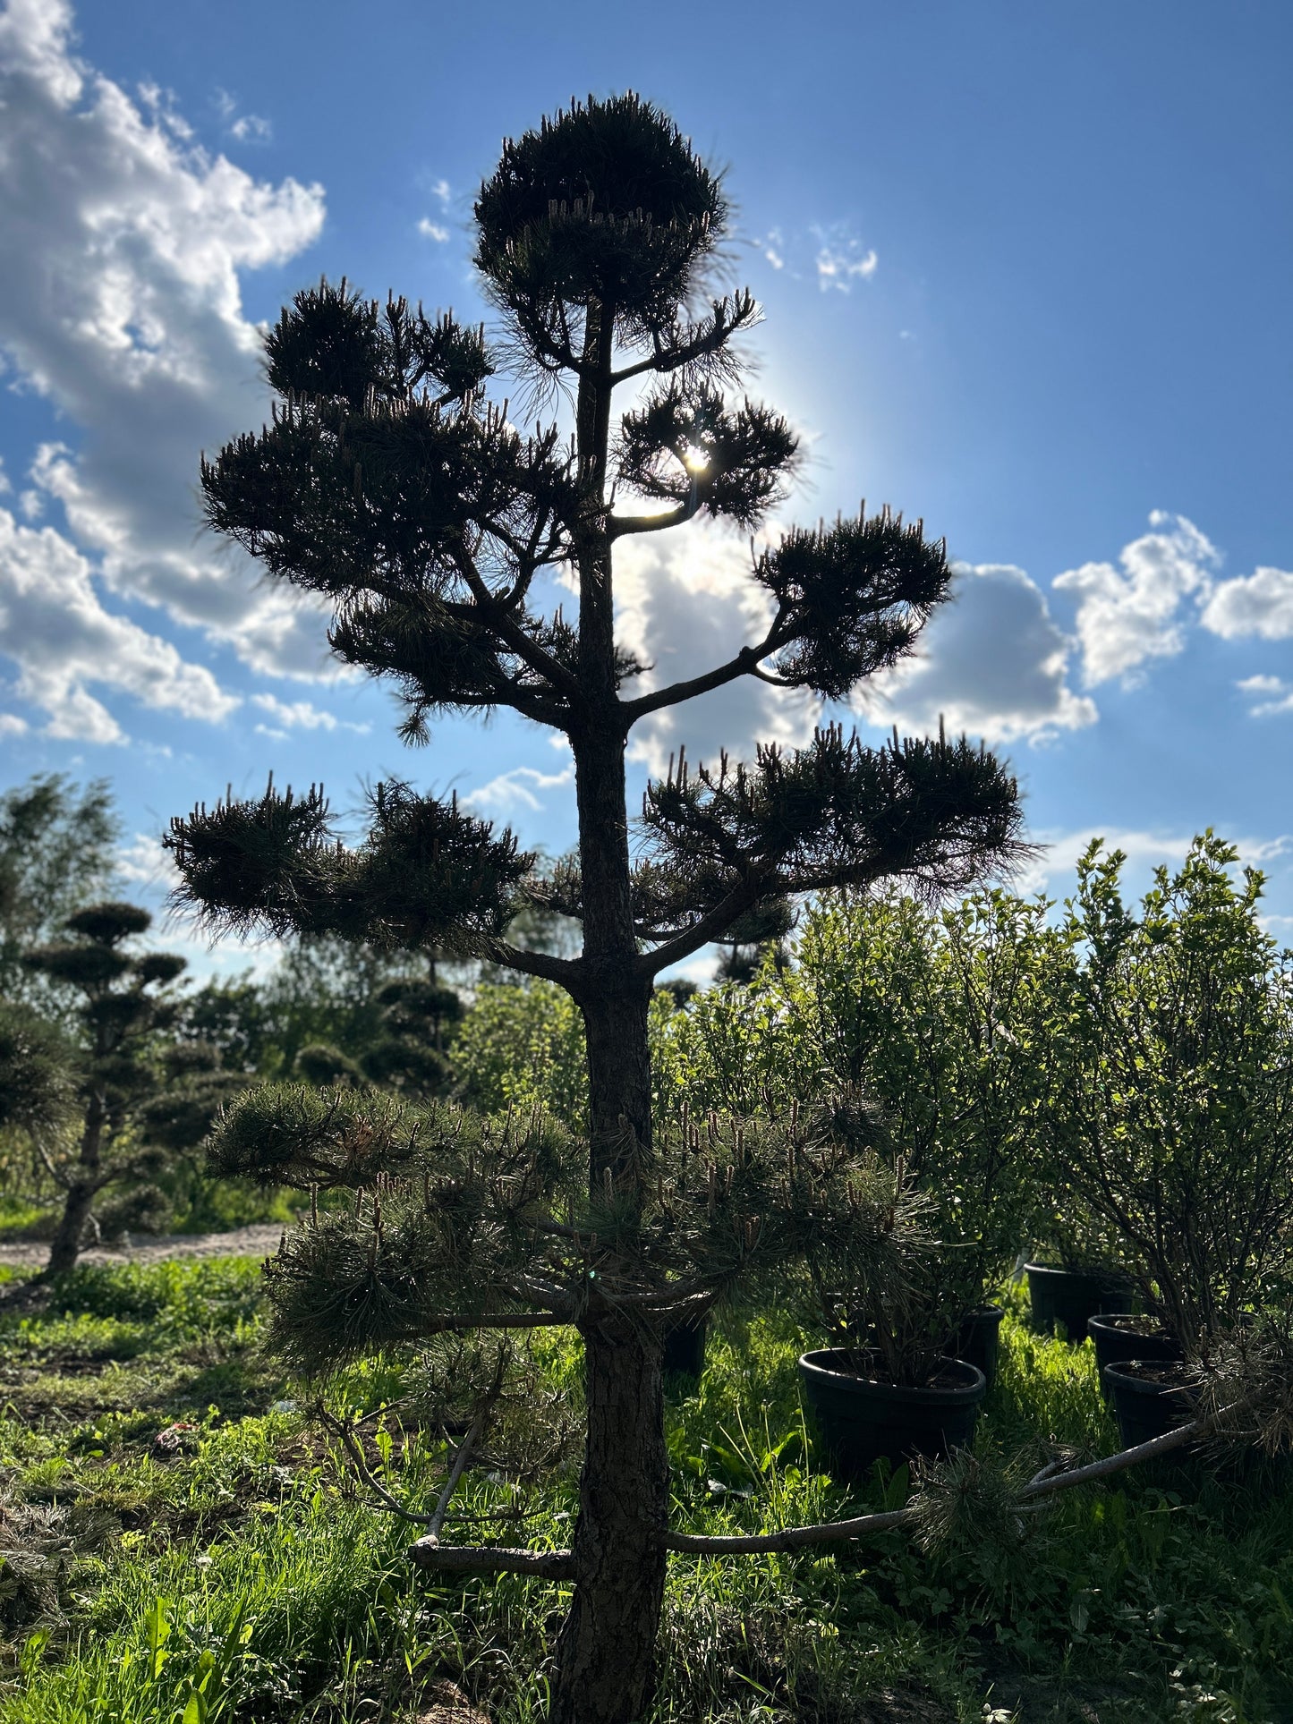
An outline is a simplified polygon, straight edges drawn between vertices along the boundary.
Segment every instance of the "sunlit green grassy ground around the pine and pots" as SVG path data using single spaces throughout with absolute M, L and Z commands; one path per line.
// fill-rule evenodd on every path
M 3 1724 L 543 1715 L 569 1588 L 409 1567 L 421 1529 L 376 1505 L 262 1348 L 257 1260 L 83 1265 L 0 1324 Z M 1119 1446 L 1090 1343 L 1033 1334 L 1022 1303 L 1002 1343 L 983 1457 L 1022 1452 L 1031 1472 L 1057 1445 Z M 819 1464 L 803 1345 L 786 1317 L 726 1310 L 700 1384 L 669 1381 L 676 1527 L 905 1502 L 905 1471 L 848 1495 Z M 534 1348 L 540 1400 L 578 1414 L 569 1331 Z M 428 1508 L 447 1450 L 400 1396 L 398 1367 L 376 1360 L 326 1400 L 374 1415 L 369 1465 Z M 567 1543 L 572 1464 L 522 1472 L 469 1465 L 445 1538 Z M 1191 1460 L 934 1553 L 888 1533 L 793 1557 L 676 1555 L 659 1660 L 659 1724 L 1293 1719 L 1293 1483 Z

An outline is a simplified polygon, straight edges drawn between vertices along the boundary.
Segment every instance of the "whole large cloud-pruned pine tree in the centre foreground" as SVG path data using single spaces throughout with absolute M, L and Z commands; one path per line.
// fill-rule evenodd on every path
M 731 393 L 753 298 L 703 298 L 728 217 L 721 179 L 650 103 L 572 103 L 505 143 L 476 202 L 497 348 L 483 328 L 324 281 L 267 338 L 272 422 L 202 469 L 210 526 L 333 605 L 334 653 L 397 684 L 409 741 L 429 741 L 438 714 L 507 707 L 574 753 L 578 859 L 548 878 L 510 833 L 407 783 L 374 790 L 355 848 L 319 788 L 272 784 L 197 809 L 171 836 L 183 896 L 216 929 L 484 959 L 560 984 L 583 1012 L 583 1145 L 543 1119 L 491 1127 L 438 1103 L 288 1088 L 243 1098 L 214 1148 L 229 1172 L 372 1191 L 288 1236 L 271 1265 L 279 1341 L 315 1369 L 438 1329 L 579 1329 L 572 1550 L 414 1546 L 436 1567 L 574 1581 L 559 1724 L 622 1724 L 650 1698 L 664 1331 L 805 1250 L 874 1269 L 895 1224 L 859 1110 L 653 1126 L 655 978 L 786 896 L 891 876 L 957 890 L 1017 845 L 1015 784 L 990 753 L 943 736 L 869 748 L 828 728 L 748 765 L 693 769 L 679 753 L 646 790 L 631 860 L 634 724 L 745 676 L 840 700 L 903 659 L 948 597 L 945 547 L 864 512 L 753 555 L 767 629 L 707 674 L 643 688 L 646 667 L 617 645 L 622 538 L 702 515 L 750 531 L 796 471 L 784 419 Z M 572 434 L 515 429 L 490 393 L 497 367 L 540 403 L 567 388 Z M 615 419 L 624 388 L 634 403 Z M 545 609 L 557 569 L 578 588 L 574 617 Z M 581 924 L 578 957 L 505 938 L 528 902 Z

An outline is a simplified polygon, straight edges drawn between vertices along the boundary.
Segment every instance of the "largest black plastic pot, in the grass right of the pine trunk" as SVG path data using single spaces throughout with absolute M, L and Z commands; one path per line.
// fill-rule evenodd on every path
M 840 1477 L 864 1479 L 878 1460 L 896 1467 L 915 1455 L 941 1459 L 972 1441 L 988 1393 L 978 1365 L 945 1359 L 936 1383 L 910 1390 L 859 1376 L 857 1359 L 841 1346 L 800 1359 L 803 1391 Z

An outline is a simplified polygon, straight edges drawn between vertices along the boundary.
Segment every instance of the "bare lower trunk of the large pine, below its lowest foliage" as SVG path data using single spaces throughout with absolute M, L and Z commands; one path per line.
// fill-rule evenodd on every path
M 584 1333 L 588 1448 L 574 1534 L 576 1583 L 557 1643 L 550 1724 L 634 1724 L 655 1688 L 664 1603 L 669 1457 L 660 1341 Z

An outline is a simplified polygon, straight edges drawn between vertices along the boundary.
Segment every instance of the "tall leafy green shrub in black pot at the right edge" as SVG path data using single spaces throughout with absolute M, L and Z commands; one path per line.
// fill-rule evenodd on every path
M 1131 1353 L 1105 1381 L 1134 1441 L 1179 1422 L 1191 1367 L 1293 1267 L 1293 959 L 1259 922 L 1262 876 L 1236 879 L 1236 850 L 1210 831 L 1179 872 L 1157 871 L 1140 915 L 1122 862 L 1093 845 L 1079 864 L 1045 1127 L 1145 1303 L 1096 1326 Z

